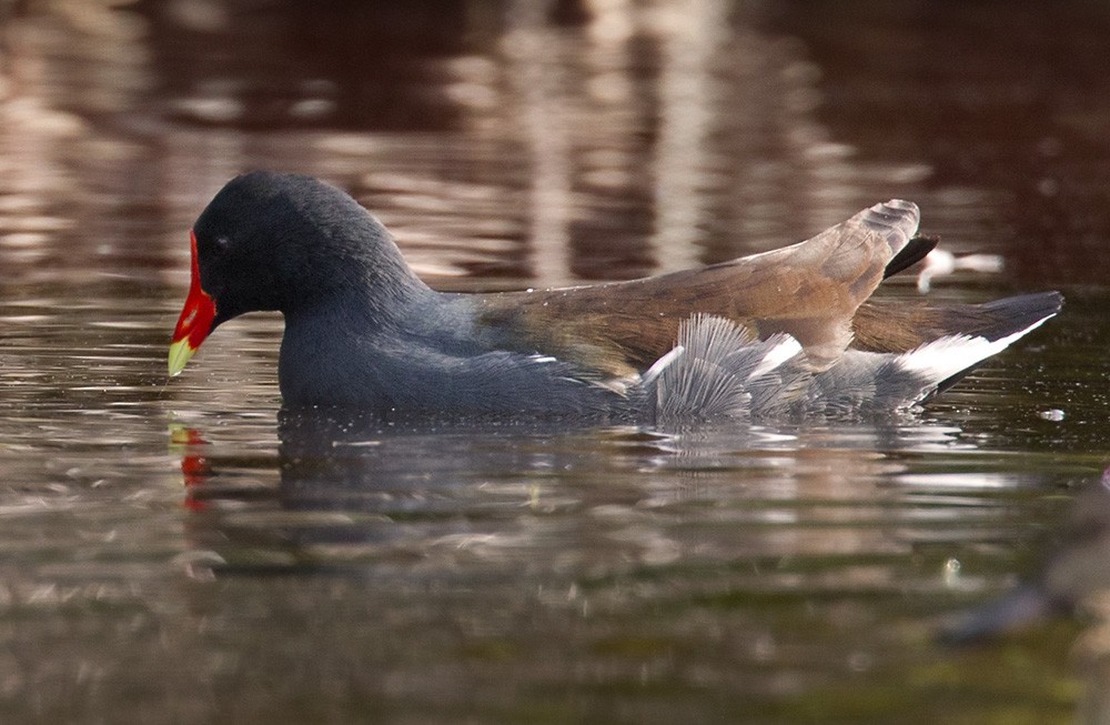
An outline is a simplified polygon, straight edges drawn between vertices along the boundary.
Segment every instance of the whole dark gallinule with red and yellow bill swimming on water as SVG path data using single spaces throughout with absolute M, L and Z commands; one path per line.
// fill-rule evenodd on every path
M 285 316 L 286 406 L 715 417 L 910 406 L 1054 315 L 1056 292 L 987 304 L 868 300 L 924 258 L 918 209 L 889 201 L 813 239 L 628 282 L 436 292 L 343 191 L 252 172 L 196 220 L 176 375 L 219 324 Z

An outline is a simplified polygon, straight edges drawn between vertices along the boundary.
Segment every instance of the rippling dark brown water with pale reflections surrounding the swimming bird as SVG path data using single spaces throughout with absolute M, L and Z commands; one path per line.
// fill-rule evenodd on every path
M 1110 717 L 1103 3 L 0 18 L 0 719 Z M 901 197 L 1005 261 L 935 298 L 1068 304 L 906 419 L 279 419 L 278 319 L 164 376 L 188 229 L 255 167 L 349 189 L 442 288 L 679 269 Z M 1019 582 L 1078 616 L 938 640 Z

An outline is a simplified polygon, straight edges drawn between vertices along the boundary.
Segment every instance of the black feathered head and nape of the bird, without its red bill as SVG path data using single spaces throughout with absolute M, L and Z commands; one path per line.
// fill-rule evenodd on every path
M 244 312 L 289 314 L 352 293 L 385 305 L 423 286 L 376 219 L 311 177 L 238 177 L 193 232 L 200 285 L 215 302 L 213 328 Z

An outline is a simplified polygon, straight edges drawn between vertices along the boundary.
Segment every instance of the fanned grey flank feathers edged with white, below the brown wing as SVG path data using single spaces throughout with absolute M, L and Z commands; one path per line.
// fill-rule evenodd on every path
M 760 341 L 730 320 L 697 314 L 679 326 L 675 350 L 645 374 L 657 422 L 748 417 L 753 391 L 774 397 L 775 370 L 801 346 L 786 334 Z

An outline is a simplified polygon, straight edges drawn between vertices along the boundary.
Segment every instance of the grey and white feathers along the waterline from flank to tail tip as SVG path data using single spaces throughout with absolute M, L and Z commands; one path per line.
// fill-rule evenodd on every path
M 1005 305 L 1007 301 L 999 301 Z M 1011 304 L 1029 311 L 1028 298 Z M 982 361 L 1036 330 L 1058 306 L 1019 314 L 1020 328 L 951 334 L 905 353 L 846 351 L 818 373 L 787 334 L 758 340 L 736 323 L 696 314 L 674 350 L 646 373 L 642 387 L 659 423 L 781 415 L 852 415 L 906 409 L 946 389 Z

